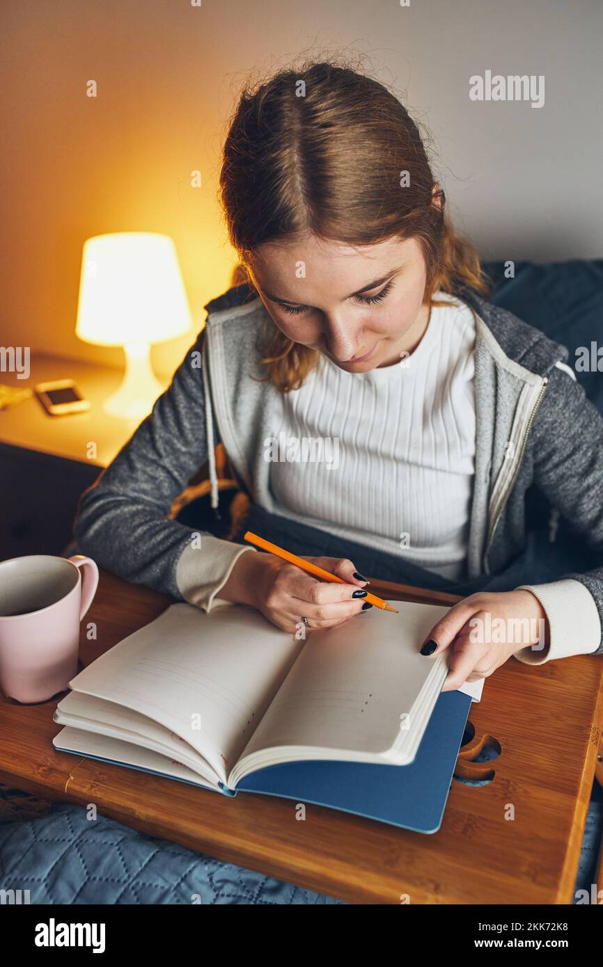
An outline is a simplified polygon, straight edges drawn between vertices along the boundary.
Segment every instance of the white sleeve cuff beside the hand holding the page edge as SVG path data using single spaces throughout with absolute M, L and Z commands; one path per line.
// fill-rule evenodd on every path
M 594 598 L 581 581 L 563 578 L 548 584 L 522 584 L 516 591 L 531 591 L 549 620 L 549 648 L 522 648 L 514 658 L 526 664 L 544 664 L 572 655 L 589 655 L 601 643 L 601 622 Z

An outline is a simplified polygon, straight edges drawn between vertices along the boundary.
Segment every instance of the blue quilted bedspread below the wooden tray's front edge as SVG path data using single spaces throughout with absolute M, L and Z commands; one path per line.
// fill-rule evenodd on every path
M 343 904 L 242 866 L 221 863 L 81 806 L 0 824 L 0 887 L 32 903 Z M 345 904 L 344 904 L 345 905 Z

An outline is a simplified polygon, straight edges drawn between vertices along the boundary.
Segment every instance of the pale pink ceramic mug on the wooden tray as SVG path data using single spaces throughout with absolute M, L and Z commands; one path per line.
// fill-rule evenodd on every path
M 31 554 L 0 562 L 0 691 L 44 702 L 77 672 L 79 622 L 99 569 L 89 557 Z

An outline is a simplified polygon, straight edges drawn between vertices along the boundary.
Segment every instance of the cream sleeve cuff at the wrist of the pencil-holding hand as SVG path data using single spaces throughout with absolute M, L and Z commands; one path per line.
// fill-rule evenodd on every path
M 212 534 L 199 535 L 198 546 L 195 542 L 187 544 L 176 566 L 176 583 L 183 599 L 207 614 L 217 605 L 231 603 L 217 595 L 241 554 L 248 550 L 256 552 L 256 547 L 223 541 Z

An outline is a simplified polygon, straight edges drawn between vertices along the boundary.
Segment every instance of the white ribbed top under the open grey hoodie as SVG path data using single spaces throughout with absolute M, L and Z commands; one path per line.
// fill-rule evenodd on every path
M 275 513 L 458 579 L 466 572 L 475 455 L 471 310 L 444 292 L 402 364 L 349 373 L 320 357 L 280 396 Z M 283 442 L 315 438 L 284 459 Z M 310 456 L 309 456 L 310 454 Z M 274 454 L 273 454 L 274 456 Z M 329 469 L 329 463 L 333 466 Z

